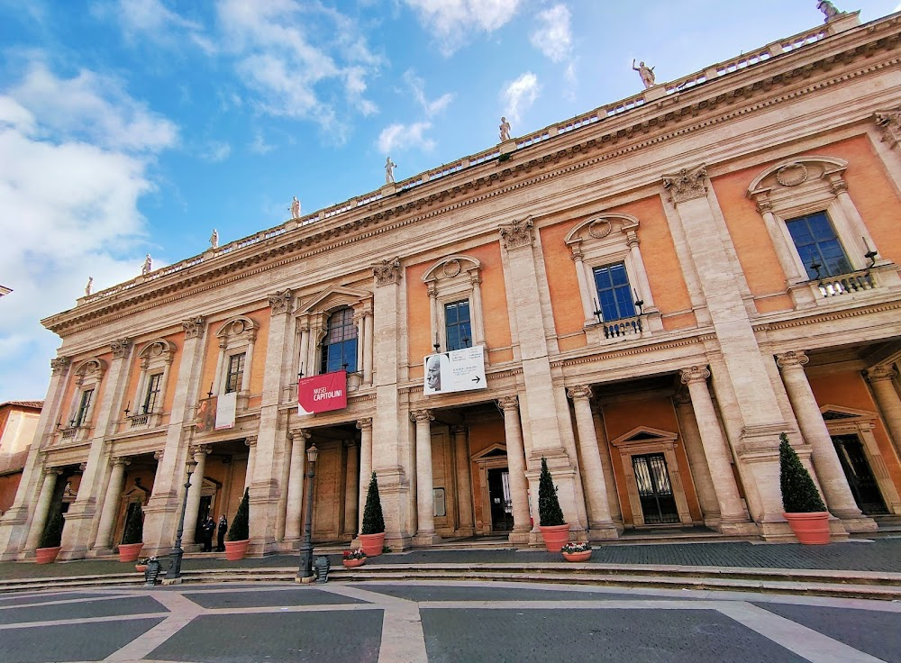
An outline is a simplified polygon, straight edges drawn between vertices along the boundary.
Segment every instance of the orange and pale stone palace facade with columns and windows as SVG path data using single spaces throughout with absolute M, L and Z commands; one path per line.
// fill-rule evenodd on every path
M 793 540 L 783 431 L 833 535 L 876 530 L 901 514 L 899 36 L 839 14 L 80 299 L 43 321 L 3 559 L 67 480 L 64 558 L 139 508 L 167 552 L 188 459 L 188 544 L 247 488 L 251 554 L 296 549 L 312 443 L 314 540 L 354 538 L 374 471 L 392 549 L 540 542 L 542 458 L 574 539 Z M 436 390 L 426 358 L 469 347 L 484 384 Z M 341 369 L 346 407 L 298 414 L 298 379 Z

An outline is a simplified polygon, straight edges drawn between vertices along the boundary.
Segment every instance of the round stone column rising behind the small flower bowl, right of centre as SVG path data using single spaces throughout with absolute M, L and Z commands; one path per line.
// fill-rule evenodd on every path
M 574 386 L 567 390 L 567 395 L 572 399 L 576 411 L 578 446 L 582 450 L 582 482 L 587 493 L 588 508 L 591 510 L 588 539 L 616 539 L 619 533 L 610 517 L 604 468 L 597 450 L 595 422 L 591 416 L 591 387 Z

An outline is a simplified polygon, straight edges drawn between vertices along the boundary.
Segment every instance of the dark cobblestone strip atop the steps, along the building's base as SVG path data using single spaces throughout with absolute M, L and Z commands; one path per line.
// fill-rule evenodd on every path
M 332 549 L 334 549 L 332 547 Z M 316 554 L 319 554 L 318 550 Z M 340 564 L 340 555 L 329 556 Z M 541 549 L 410 550 L 381 555 L 371 564 L 479 564 L 559 562 L 560 555 Z M 727 543 L 683 543 L 666 545 L 596 545 L 590 564 L 680 565 L 701 567 L 806 568 L 901 573 L 901 538 L 855 539 L 829 546 L 793 543 L 763 544 L 745 541 Z M 286 568 L 297 564 L 297 555 L 272 555 L 226 561 L 221 553 L 189 555 L 183 568 Z M 114 559 L 77 560 L 35 565 L 0 563 L 0 579 L 23 577 L 88 576 L 123 573 L 128 565 Z

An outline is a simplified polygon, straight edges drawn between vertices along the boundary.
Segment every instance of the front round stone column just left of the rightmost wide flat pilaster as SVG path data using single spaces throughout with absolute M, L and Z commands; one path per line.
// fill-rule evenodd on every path
M 691 395 L 691 405 L 695 410 L 697 431 L 704 446 L 704 457 L 710 475 L 716 477 L 714 491 L 719 504 L 720 531 L 729 534 L 751 534 L 756 528 L 751 522 L 742 504 L 742 497 L 735 483 L 730 452 L 726 447 L 723 431 L 716 419 L 714 402 L 707 389 L 707 378 L 710 371 L 704 367 L 693 366 L 680 371 L 683 385 L 687 385 Z M 702 470 L 703 471 L 703 470 Z

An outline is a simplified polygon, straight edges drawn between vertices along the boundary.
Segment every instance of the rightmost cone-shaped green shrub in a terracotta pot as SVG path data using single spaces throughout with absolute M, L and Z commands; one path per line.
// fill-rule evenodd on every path
M 788 444 L 788 436 L 783 432 L 779 439 L 779 486 L 786 510 L 783 515 L 800 543 L 829 543 L 829 512 L 814 479 Z

